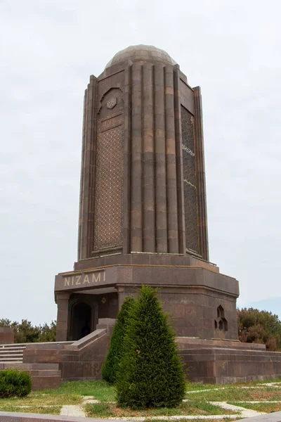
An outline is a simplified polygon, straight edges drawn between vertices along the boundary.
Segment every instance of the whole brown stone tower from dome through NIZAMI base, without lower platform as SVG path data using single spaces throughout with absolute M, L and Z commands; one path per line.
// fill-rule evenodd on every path
M 78 261 L 58 274 L 58 340 L 159 287 L 178 335 L 237 340 L 235 279 L 209 262 L 200 87 L 153 46 L 119 51 L 84 97 Z

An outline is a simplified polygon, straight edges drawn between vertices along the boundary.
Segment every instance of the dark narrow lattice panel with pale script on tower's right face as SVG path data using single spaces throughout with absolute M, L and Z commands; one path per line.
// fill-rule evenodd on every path
M 188 112 L 188 110 L 181 106 L 185 243 L 186 248 L 200 253 L 197 222 L 197 186 L 193 119 L 194 117 Z

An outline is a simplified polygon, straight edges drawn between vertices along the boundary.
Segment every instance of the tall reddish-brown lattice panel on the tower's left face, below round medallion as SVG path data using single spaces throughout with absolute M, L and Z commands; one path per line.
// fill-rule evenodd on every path
M 123 115 L 98 122 L 94 250 L 122 245 Z

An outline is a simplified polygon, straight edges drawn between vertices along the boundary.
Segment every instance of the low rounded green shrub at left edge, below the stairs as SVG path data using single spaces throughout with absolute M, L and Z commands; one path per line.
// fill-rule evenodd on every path
M 0 371 L 0 399 L 7 397 L 25 397 L 32 388 L 31 376 L 25 371 L 6 369 Z

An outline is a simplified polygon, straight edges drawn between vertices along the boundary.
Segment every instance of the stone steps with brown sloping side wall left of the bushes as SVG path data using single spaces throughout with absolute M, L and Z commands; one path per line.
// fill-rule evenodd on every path
M 0 371 L 32 376 L 32 390 L 59 388 L 61 381 L 100 379 L 115 319 L 99 319 L 96 331 L 77 341 L 0 344 Z

